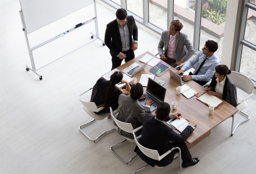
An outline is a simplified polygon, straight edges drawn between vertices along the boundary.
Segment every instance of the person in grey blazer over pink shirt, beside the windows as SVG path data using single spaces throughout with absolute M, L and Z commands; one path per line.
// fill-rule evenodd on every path
M 183 25 L 179 20 L 170 23 L 169 30 L 164 30 L 158 44 L 160 58 L 173 68 L 189 60 L 195 50 L 185 33 L 180 32 Z M 163 49 L 165 47 L 165 49 Z M 185 47 L 189 53 L 185 53 Z

